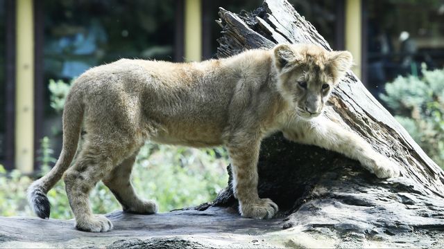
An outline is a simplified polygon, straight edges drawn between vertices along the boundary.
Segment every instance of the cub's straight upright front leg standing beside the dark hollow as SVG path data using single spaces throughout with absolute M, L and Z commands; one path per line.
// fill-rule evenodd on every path
M 239 212 L 244 217 L 271 219 L 278 205 L 257 194 L 257 160 L 260 140 L 245 136 L 234 138 L 227 145 L 232 165 L 233 192 L 239 200 Z

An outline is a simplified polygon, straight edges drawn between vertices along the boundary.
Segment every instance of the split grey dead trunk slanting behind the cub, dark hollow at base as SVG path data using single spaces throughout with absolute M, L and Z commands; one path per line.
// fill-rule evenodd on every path
M 286 0 L 266 0 L 254 12 L 239 15 L 221 8 L 219 15 L 219 57 L 277 43 L 313 43 L 331 50 Z M 262 145 L 259 195 L 280 205 L 283 227 L 395 243 L 391 246 L 437 246 L 434 236 L 444 230 L 443 170 L 351 71 L 334 90 L 326 114 L 395 160 L 402 177 L 379 180 L 355 160 L 287 142 L 279 133 Z M 230 188 L 214 205 L 237 205 Z M 345 245 L 347 241 L 343 239 Z

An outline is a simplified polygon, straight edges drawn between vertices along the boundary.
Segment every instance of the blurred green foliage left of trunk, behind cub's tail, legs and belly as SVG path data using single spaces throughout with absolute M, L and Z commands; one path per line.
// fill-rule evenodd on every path
M 61 111 L 69 91 L 65 82 L 51 81 L 51 107 Z M 46 174 L 55 162 L 51 141 L 41 140 L 42 150 L 38 160 Z M 147 142 L 139 152 L 133 167 L 132 182 L 139 196 L 154 199 L 159 211 L 165 212 L 211 201 L 228 182 L 225 167 L 228 155 L 221 148 L 192 149 L 155 145 Z M 9 174 L 0 165 L 0 215 L 33 215 L 26 203 L 26 187 L 33 179 L 13 170 Z M 96 185 L 90 194 L 94 213 L 121 210 L 121 206 L 103 183 Z M 51 218 L 70 219 L 71 209 L 65 192 L 65 184 L 59 181 L 48 192 L 51 202 Z

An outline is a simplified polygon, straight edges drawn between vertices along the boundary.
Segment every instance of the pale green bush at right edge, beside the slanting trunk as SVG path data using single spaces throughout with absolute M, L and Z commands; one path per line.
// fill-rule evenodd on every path
M 444 69 L 398 77 L 380 98 L 422 149 L 444 167 Z

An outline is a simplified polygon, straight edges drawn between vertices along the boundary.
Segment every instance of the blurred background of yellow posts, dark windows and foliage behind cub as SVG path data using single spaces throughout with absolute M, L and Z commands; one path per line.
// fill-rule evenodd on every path
M 289 2 L 334 50 L 352 52 L 354 71 L 367 89 L 443 166 L 444 0 Z M 28 214 L 20 193 L 58 157 L 61 113 L 71 80 L 87 68 L 120 58 L 172 62 L 212 58 L 221 32 L 214 21 L 219 6 L 240 12 L 261 4 L 260 0 L 0 0 L 0 215 Z M 144 151 L 133 180 L 139 192 L 152 190 L 158 193 L 153 198 L 164 198 L 161 210 L 209 201 L 226 184 L 228 159 L 223 149 L 147 144 Z M 162 169 L 164 165 L 169 166 Z M 145 169 L 154 173 L 144 173 Z M 167 173 L 161 177 L 160 170 L 177 178 Z M 196 190 L 183 190 L 179 182 Z M 63 192 L 59 185 L 55 191 Z M 112 199 L 103 186 L 94 191 L 105 201 Z M 155 194 L 151 192 L 148 196 Z M 202 196 L 203 192 L 209 194 Z M 2 193 L 10 203 L 1 203 Z M 70 216 L 66 205 L 66 200 L 60 201 L 56 217 Z M 96 201 L 93 206 L 96 212 L 119 208 L 114 200 L 105 205 Z

